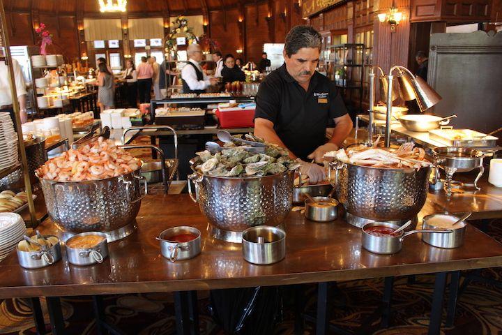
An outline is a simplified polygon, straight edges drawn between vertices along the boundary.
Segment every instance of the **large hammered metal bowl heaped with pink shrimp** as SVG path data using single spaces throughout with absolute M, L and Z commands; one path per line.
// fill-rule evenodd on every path
M 137 216 L 144 197 L 140 184 L 146 185 L 139 174 L 141 166 L 142 161 L 100 137 L 51 158 L 36 176 L 47 212 L 63 232 L 109 233 L 120 231 Z

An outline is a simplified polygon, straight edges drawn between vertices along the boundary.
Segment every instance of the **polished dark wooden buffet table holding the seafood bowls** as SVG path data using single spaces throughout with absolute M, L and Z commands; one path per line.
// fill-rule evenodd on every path
M 498 208 L 500 214 L 502 205 Z M 480 211 L 483 209 L 480 207 Z M 420 216 L 443 210 L 443 205 L 432 196 Z M 462 210 L 459 208 L 459 211 Z M 458 274 L 465 269 L 502 266 L 502 244 L 472 225 L 468 225 L 464 246 L 460 248 L 434 248 L 421 241 L 420 234 L 413 234 L 406 237 L 400 253 L 377 255 L 361 248 L 360 230 L 347 224 L 343 218 L 334 223 L 314 223 L 298 212 L 292 212 L 284 223 L 286 258 L 275 265 L 259 266 L 243 259 L 239 244 L 208 237 L 206 219 L 188 195 L 147 195 L 137 216 L 137 224 L 137 232 L 109 244 L 109 258 L 100 265 L 69 265 L 63 252 L 63 260 L 55 265 L 29 270 L 18 265 L 15 253 L 9 255 L 0 262 L 0 298 L 47 297 L 53 334 L 63 334 L 62 315 L 60 309 L 58 311 L 59 297 L 62 296 L 177 292 L 176 301 L 185 306 L 190 305 L 190 299 L 194 298 L 183 294 L 195 290 L 301 283 L 327 285 L 330 281 L 439 273 L 429 329 L 429 334 L 437 334 L 448 272 Z M 176 225 L 191 225 L 201 231 L 201 255 L 174 263 L 162 258 L 155 237 L 162 230 Z M 44 234 L 57 233 L 50 219 L 39 228 Z M 99 301 L 97 297 L 98 311 Z M 327 301 L 324 303 L 328 304 Z M 196 318 L 189 316 L 188 308 L 177 308 L 176 311 L 178 334 L 190 332 L 188 319 Z M 319 311 L 322 313 L 318 313 L 317 332 L 323 334 L 326 308 Z M 98 320 L 100 315 L 96 315 Z M 193 332 L 197 329 L 193 322 L 190 327 Z

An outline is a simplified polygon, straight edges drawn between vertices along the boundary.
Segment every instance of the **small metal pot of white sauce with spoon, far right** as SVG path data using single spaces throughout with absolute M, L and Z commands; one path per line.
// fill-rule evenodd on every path
M 444 215 L 444 214 L 433 214 L 427 215 L 423 220 L 423 228 L 424 229 L 438 229 L 431 221 L 434 220 L 443 220 L 448 221 L 450 223 L 455 223 L 459 218 L 457 216 L 452 215 Z M 464 234 L 467 229 L 467 223 L 465 221 L 461 221 L 457 223 L 454 228 L 451 228 L 451 234 L 436 234 L 434 232 L 427 232 L 422 234 L 422 240 L 430 244 L 431 246 L 436 246 L 438 248 L 458 248 L 464 244 Z

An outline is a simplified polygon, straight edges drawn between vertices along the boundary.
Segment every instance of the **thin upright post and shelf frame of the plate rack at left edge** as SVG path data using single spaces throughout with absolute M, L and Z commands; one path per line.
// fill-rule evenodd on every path
M 9 36 L 7 34 L 7 20 L 5 14 L 5 8 L 3 7 L 3 0 L 0 0 L 0 46 L 3 47 L 5 53 L 5 59 L 7 64 L 13 64 L 12 55 L 10 54 L 10 42 Z M 14 72 L 12 66 L 8 66 L 8 79 L 10 81 L 10 87 L 12 87 L 12 96 L 13 98 L 13 109 L 15 115 L 15 132 L 17 135 L 17 145 L 20 153 L 20 165 L 22 168 L 22 174 L 24 179 L 24 191 L 26 195 L 28 195 L 28 211 L 29 215 L 26 215 L 24 220 L 26 225 L 29 227 L 34 227 L 40 223 L 41 217 L 37 218 L 37 211 L 35 208 L 35 204 L 33 202 L 33 192 L 31 189 L 31 182 L 29 177 L 28 163 L 26 161 L 26 151 L 24 149 L 24 141 L 22 137 L 22 128 L 21 128 L 21 117 L 20 117 L 20 106 L 17 101 L 17 92 L 15 90 L 15 80 L 14 80 Z M 3 174 L 8 175 L 15 171 L 15 168 L 19 168 L 19 164 L 16 166 L 12 166 L 10 168 L 6 168 L 5 170 L 0 171 L 0 176 Z M 5 177 L 5 176 L 3 176 Z M 45 207 L 45 205 L 43 205 Z M 39 215 L 40 216 L 40 215 Z

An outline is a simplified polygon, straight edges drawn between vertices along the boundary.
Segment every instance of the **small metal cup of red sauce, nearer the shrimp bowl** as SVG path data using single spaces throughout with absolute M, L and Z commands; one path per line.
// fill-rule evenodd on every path
M 178 234 L 194 234 L 195 239 L 187 242 L 170 241 Z M 160 233 L 159 237 L 155 237 L 160 241 L 160 253 L 165 258 L 176 262 L 176 260 L 189 260 L 199 255 L 201 252 L 201 233 L 197 228 L 188 225 L 168 228 Z

